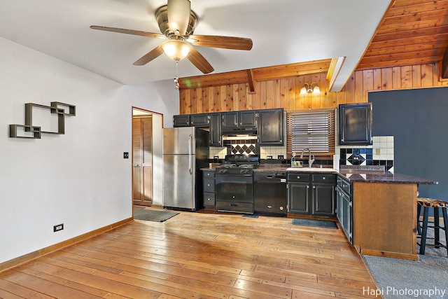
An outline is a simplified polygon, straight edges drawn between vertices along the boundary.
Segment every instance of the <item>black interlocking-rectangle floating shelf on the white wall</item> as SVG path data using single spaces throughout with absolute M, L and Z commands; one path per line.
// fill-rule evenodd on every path
M 11 138 L 32 138 L 40 139 L 41 133 L 65 134 L 65 117 L 76 115 L 76 106 L 61 102 L 51 102 L 51 106 L 41 104 L 25 104 L 25 125 L 9 125 L 9 137 Z M 33 108 L 48 109 L 50 113 L 57 114 L 57 132 L 42 131 L 41 127 L 33 125 Z M 66 113 L 65 111 L 68 111 Z M 25 134 L 19 135 L 18 128 L 25 130 Z M 27 134 L 28 132 L 28 134 Z

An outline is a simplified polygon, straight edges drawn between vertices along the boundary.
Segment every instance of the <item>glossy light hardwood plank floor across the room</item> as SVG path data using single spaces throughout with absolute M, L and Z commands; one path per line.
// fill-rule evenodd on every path
M 364 298 L 367 288 L 342 230 L 241 214 L 131 221 L 0 273 L 0 298 Z

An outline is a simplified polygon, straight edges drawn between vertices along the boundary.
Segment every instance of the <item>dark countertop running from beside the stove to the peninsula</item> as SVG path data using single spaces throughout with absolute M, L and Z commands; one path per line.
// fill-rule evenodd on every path
M 220 164 L 211 164 L 209 167 L 201 168 L 201 170 L 215 170 L 216 166 Z M 288 164 L 260 164 L 258 168 L 253 169 L 253 172 L 303 172 L 302 170 L 286 170 L 290 165 Z M 311 172 L 318 174 L 319 172 Z M 423 179 L 416 176 L 409 176 L 407 174 L 398 174 L 391 172 L 380 171 L 365 171 L 358 169 L 339 169 L 334 172 L 323 172 L 325 174 L 334 173 L 351 182 L 368 182 L 368 183 L 416 183 L 437 185 L 438 181 L 430 179 Z

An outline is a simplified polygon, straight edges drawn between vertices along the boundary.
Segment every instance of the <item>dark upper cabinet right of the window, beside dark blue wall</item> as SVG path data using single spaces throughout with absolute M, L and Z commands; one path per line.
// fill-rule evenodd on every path
M 339 105 L 339 144 L 372 145 L 372 103 Z

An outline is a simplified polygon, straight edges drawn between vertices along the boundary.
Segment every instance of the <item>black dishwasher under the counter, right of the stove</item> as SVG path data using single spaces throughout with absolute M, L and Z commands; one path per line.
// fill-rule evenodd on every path
M 255 214 L 286 216 L 286 172 L 253 173 L 253 210 Z

